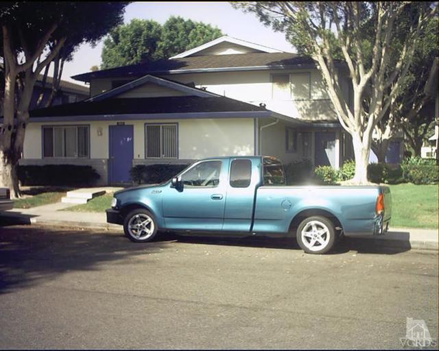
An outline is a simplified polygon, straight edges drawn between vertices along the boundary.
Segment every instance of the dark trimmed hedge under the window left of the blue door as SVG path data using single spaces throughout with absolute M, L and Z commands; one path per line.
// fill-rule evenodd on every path
M 78 165 L 19 165 L 21 185 L 90 186 L 100 178 L 91 166 Z

